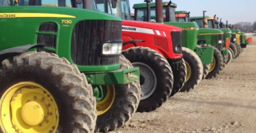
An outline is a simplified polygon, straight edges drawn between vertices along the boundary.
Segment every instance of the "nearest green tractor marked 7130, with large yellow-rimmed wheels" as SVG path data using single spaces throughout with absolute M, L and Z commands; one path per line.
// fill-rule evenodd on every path
M 122 20 L 69 8 L 89 2 L 1 4 L 0 132 L 107 132 L 134 115 L 139 68 L 121 55 Z

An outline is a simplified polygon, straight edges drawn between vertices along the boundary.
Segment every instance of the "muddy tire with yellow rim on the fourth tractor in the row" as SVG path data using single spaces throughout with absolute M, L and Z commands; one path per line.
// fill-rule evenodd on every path
M 206 76 L 206 79 L 216 77 L 221 70 L 224 68 L 223 55 L 221 55 L 221 51 L 214 47 L 214 59 L 212 63 L 210 63 L 210 72 Z

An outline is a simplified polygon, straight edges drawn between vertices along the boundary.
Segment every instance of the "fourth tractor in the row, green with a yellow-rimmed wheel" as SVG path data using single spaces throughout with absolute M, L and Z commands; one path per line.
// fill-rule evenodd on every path
M 211 25 L 210 17 L 205 16 L 190 17 L 191 22 L 196 22 L 199 25 L 199 39 L 204 40 L 204 44 L 214 46 L 214 61 L 211 63 L 210 72 L 206 78 L 216 77 L 221 70 L 225 67 L 225 59 L 227 59 L 227 49 L 224 44 L 224 33 L 219 29 L 209 29 L 208 25 Z

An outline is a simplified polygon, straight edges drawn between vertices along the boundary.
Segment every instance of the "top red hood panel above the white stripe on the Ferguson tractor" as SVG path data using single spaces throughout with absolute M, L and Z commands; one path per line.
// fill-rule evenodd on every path
M 160 23 L 150 23 L 150 22 L 143 22 L 137 20 L 123 20 L 122 25 L 130 26 L 130 27 L 141 27 L 146 29 L 154 29 L 160 31 L 182 31 L 180 27 L 175 27 L 171 25 L 165 25 Z

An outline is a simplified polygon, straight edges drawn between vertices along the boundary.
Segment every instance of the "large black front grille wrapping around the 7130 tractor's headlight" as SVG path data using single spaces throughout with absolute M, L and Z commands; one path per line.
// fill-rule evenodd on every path
M 122 41 L 122 22 L 112 20 L 83 20 L 73 29 L 71 42 L 72 61 L 77 65 L 113 65 L 119 55 L 103 57 L 104 40 Z

